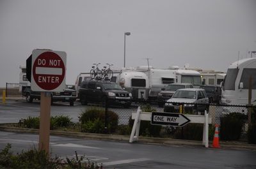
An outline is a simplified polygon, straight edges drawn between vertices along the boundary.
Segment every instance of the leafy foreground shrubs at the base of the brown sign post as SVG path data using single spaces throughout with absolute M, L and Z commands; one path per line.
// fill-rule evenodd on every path
M 80 158 L 77 156 L 76 158 L 68 159 L 67 161 L 63 161 L 58 156 L 54 158 L 48 158 L 48 154 L 46 151 L 38 151 L 38 149 L 33 146 L 30 147 L 28 151 L 22 151 L 22 153 L 18 153 L 17 156 L 13 156 L 13 152 L 10 152 L 12 145 L 8 143 L 8 145 L 0 152 L 0 168 L 2 166 L 4 168 L 38 168 L 38 169 L 61 169 L 61 168 L 81 168 L 81 169 L 93 169 L 100 168 L 97 163 L 91 163 L 88 159 L 88 163 L 83 162 L 85 156 L 81 156 Z M 102 168 L 102 166 L 101 166 Z

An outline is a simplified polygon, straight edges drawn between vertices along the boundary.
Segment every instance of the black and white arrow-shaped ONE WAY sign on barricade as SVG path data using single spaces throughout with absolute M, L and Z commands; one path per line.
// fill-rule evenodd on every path
M 169 125 L 169 126 L 184 126 L 190 120 L 184 114 L 152 112 L 151 124 Z

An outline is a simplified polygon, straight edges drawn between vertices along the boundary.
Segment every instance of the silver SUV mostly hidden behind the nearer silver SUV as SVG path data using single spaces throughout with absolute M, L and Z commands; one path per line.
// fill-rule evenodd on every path
M 164 102 L 172 98 L 172 95 L 178 89 L 194 88 L 192 84 L 168 84 L 162 91 L 158 93 L 157 103 L 159 107 L 164 106 Z

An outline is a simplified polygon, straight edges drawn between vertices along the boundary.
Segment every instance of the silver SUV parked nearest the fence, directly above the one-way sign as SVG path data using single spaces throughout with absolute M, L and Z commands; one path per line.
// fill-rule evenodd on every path
M 179 112 L 180 105 L 184 105 L 185 112 L 192 114 L 204 114 L 204 110 L 209 110 L 209 98 L 204 89 L 179 89 L 167 102 L 164 112 Z

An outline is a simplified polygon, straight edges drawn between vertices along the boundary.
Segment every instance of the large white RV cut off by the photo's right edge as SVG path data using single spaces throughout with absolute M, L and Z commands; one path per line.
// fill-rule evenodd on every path
M 221 84 L 221 103 L 225 105 L 248 105 L 249 76 L 252 76 L 252 104 L 256 104 L 256 58 L 241 59 L 230 64 Z M 246 112 L 243 108 L 241 112 Z M 229 113 L 230 107 L 223 108 Z

